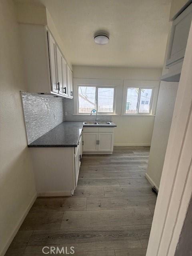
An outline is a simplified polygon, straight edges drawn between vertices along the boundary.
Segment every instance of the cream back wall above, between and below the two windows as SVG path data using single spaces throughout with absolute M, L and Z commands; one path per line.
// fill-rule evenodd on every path
M 161 69 L 149 68 L 105 68 L 73 66 L 74 78 L 99 78 L 122 80 L 119 90 L 122 92 L 123 80 L 159 80 Z M 151 143 L 154 116 L 112 116 L 115 122 L 114 144 L 122 146 Z

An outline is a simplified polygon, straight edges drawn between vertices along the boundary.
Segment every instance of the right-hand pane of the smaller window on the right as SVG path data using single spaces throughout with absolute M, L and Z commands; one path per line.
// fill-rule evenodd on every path
M 152 89 L 141 88 L 139 113 L 149 113 L 150 112 L 151 95 L 152 95 Z M 144 102 L 144 103 L 142 103 L 142 102 Z

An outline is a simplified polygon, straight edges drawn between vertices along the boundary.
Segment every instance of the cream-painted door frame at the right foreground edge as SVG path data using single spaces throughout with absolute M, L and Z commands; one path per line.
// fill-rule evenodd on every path
M 192 196 L 192 26 L 146 256 L 174 256 Z

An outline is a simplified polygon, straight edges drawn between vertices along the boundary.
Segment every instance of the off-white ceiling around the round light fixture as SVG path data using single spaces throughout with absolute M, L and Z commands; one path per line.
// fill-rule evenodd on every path
M 171 0 L 16 0 L 43 4 L 72 65 L 162 68 Z M 96 31 L 110 42 L 97 45 Z

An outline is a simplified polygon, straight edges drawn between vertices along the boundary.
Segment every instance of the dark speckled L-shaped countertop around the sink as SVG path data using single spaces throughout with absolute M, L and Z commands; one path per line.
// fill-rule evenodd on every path
M 110 122 L 110 125 L 84 125 L 83 122 L 65 121 L 34 140 L 28 145 L 29 148 L 39 147 L 77 147 L 83 126 L 84 127 L 116 127 L 116 124 Z

